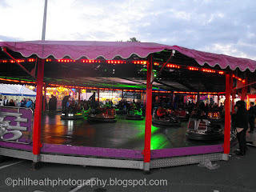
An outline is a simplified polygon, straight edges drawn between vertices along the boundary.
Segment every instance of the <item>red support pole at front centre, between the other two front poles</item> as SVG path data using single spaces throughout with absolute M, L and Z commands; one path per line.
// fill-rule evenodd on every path
M 150 142 L 151 142 L 151 123 L 152 123 L 152 63 L 153 56 L 150 54 L 146 72 L 146 122 L 145 122 L 145 141 L 144 141 L 144 162 L 150 162 Z

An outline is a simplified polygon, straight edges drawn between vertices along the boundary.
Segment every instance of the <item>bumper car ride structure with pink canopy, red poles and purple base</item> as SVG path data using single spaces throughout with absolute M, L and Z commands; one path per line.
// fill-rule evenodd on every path
M 29 159 L 34 168 L 38 162 L 54 162 L 149 171 L 198 163 L 206 158 L 227 161 L 230 154 L 231 95 L 234 98 L 235 94 L 241 94 L 245 100 L 250 88 L 255 86 L 255 61 L 179 46 L 147 42 L 51 41 L 0 42 L 0 46 L 1 81 L 30 82 L 37 87 L 34 112 L 26 108 L 1 108 L 0 155 Z M 238 84 L 242 86 L 238 87 Z M 143 148 L 136 149 L 131 144 L 127 148 L 120 145 L 107 147 L 102 144 L 106 140 L 103 137 L 90 146 L 90 143 L 81 146 L 42 142 L 42 96 L 47 86 L 94 90 L 98 94 L 100 89 L 114 89 L 120 93 L 125 90 L 145 92 L 145 127 L 138 137 L 144 138 Z M 212 145 L 156 148 L 161 139 L 151 137 L 155 131 L 153 127 L 151 129 L 152 93 L 154 102 L 160 97 L 175 100 L 175 95 L 178 100 L 193 101 L 208 94 L 217 96 L 219 101 L 225 94 L 224 140 Z M 111 92 L 106 91 L 106 94 Z M 127 97 L 139 98 L 138 95 Z M 143 94 L 140 97 L 143 98 Z M 113 129 L 111 126 L 105 128 Z M 114 128 L 119 133 L 118 127 Z M 117 138 L 112 142 L 118 141 Z M 174 141 L 170 139 L 169 142 Z

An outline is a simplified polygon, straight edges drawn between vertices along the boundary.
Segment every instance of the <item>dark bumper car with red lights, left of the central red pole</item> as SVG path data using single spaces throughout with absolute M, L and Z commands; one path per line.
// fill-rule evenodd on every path
M 90 114 L 87 118 L 90 122 L 117 122 L 116 112 L 114 109 L 106 109 L 100 113 Z

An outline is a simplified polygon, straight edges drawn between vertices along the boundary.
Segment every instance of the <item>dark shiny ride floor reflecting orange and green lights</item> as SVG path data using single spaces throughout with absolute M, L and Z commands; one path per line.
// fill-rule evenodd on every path
M 86 118 L 61 120 L 60 114 L 44 114 L 42 143 L 143 150 L 145 120 L 126 120 L 125 114 L 118 114 L 117 118 L 117 122 L 88 122 Z M 187 123 L 182 122 L 179 127 L 152 126 L 151 150 L 223 143 L 223 140 L 202 142 L 187 139 Z

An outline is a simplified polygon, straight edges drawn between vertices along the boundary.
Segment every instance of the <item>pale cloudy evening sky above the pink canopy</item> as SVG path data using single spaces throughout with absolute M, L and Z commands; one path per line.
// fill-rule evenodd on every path
M 0 0 L 0 41 L 40 40 L 44 0 Z M 158 42 L 256 59 L 254 0 L 48 0 L 46 40 Z

